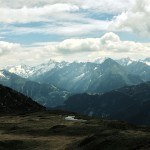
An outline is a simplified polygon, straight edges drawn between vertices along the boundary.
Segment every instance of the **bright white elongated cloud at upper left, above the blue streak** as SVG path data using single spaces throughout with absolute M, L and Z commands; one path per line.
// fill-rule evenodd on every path
M 78 11 L 78 7 L 69 4 L 45 5 L 42 7 L 0 8 L 0 22 L 3 23 L 29 23 L 47 22 L 53 19 L 67 19 L 71 12 Z M 61 14 L 61 15 L 60 15 Z M 69 17 L 70 18 L 70 17 Z

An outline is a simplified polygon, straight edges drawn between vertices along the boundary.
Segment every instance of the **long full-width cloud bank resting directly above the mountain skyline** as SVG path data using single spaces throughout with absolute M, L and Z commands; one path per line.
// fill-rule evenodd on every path
M 137 59 L 150 55 L 150 43 L 122 41 L 112 32 L 100 38 L 67 39 L 61 42 L 34 43 L 28 46 L 1 41 L 0 49 L 1 65 L 20 63 L 35 65 L 50 58 L 58 61 L 87 61 L 97 57 L 128 56 Z

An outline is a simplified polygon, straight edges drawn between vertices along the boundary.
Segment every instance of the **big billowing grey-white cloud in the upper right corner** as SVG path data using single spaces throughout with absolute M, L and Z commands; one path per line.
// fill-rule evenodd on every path
M 132 8 L 114 18 L 110 29 L 125 30 L 139 33 L 143 36 L 150 34 L 150 1 L 135 0 Z

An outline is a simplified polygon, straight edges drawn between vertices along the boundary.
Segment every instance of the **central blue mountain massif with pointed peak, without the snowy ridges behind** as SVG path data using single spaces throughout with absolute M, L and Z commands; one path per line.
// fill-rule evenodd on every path
M 101 64 L 73 62 L 53 68 L 32 79 L 40 83 L 53 84 L 73 93 L 104 93 L 142 82 L 138 75 L 129 73 L 110 58 Z

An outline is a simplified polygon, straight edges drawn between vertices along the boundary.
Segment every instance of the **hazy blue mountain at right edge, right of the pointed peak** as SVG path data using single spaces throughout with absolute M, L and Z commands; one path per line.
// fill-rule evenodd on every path
M 126 69 L 132 73 L 139 75 L 142 80 L 150 81 L 150 66 L 144 62 L 133 62 L 126 67 Z

